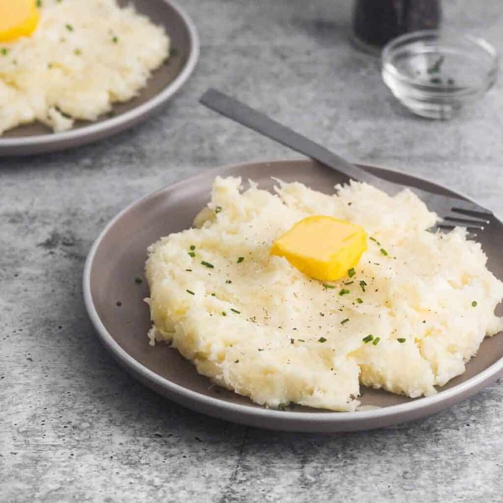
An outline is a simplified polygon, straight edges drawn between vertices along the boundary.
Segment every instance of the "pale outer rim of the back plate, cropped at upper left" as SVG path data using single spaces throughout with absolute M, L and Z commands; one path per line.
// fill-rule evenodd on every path
M 159 0 L 159 2 L 167 4 L 175 11 L 177 11 L 187 27 L 191 42 L 191 48 L 187 62 L 185 63 L 182 71 L 172 82 L 170 82 L 165 88 L 163 88 L 160 93 L 156 94 L 145 103 L 142 103 L 141 105 L 138 105 L 131 110 L 118 115 L 117 117 L 110 117 L 100 122 L 90 122 L 89 124 L 80 128 L 72 128 L 68 131 L 62 131 L 59 133 L 52 132 L 46 134 L 37 134 L 34 136 L 20 136 L 14 138 L 2 138 L 0 136 L 0 152 L 3 149 L 8 148 L 27 146 L 40 147 L 44 145 L 50 145 L 51 143 L 67 142 L 82 137 L 92 137 L 97 134 L 99 135 L 103 131 L 107 131 L 109 129 L 113 130 L 114 128 L 120 127 L 124 124 L 134 123 L 140 117 L 148 115 L 149 112 L 152 112 L 157 107 L 162 105 L 165 101 L 170 99 L 173 95 L 175 95 L 184 85 L 184 83 L 187 81 L 191 73 L 194 71 L 194 68 L 196 67 L 200 53 L 200 40 L 194 21 L 192 21 L 192 18 L 182 7 L 180 7 L 177 2 L 175 2 L 174 0 Z

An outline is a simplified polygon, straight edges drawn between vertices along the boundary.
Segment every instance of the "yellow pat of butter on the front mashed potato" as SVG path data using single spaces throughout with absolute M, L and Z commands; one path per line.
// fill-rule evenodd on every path
M 359 225 L 327 216 L 311 216 L 276 239 L 270 253 L 285 257 L 311 278 L 334 281 L 347 276 L 366 249 L 367 233 Z

